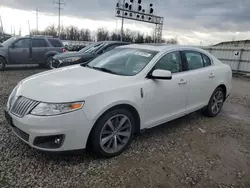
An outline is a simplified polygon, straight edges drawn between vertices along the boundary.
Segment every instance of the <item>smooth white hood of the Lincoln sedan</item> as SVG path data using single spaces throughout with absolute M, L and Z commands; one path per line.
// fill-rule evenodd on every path
M 42 102 L 82 101 L 87 96 L 124 86 L 131 77 L 85 68 L 80 65 L 46 71 L 19 83 L 17 96 Z

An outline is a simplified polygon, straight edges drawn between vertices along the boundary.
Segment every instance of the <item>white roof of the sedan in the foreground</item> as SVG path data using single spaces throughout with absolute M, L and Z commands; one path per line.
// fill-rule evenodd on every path
M 203 51 L 200 48 L 194 46 L 185 46 L 185 45 L 168 45 L 168 44 L 130 44 L 126 46 L 119 46 L 118 48 L 137 48 L 144 50 L 152 51 L 169 51 L 169 50 L 178 50 L 178 49 L 188 49 L 188 50 L 199 50 Z

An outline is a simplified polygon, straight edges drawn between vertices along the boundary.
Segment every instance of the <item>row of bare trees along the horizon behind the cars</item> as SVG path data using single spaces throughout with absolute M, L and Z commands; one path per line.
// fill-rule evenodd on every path
M 58 37 L 58 30 L 55 25 L 50 25 L 43 31 L 32 30 L 31 34 Z M 121 34 L 115 31 L 110 32 L 104 28 L 98 28 L 96 32 L 91 32 L 89 29 L 79 29 L 75 26 L 68 26 L 61 28 L 59 38 L 61 40 L 73 41 L 119 41 L 121 40 Z M 123 41 L 131 43 L 154 43 L 154 37 L 126 29 L 123 33 Z M 163 39 L 162 43 L 178 44 L 179 41 L 177 38 L 171 38 L 168 40 Z

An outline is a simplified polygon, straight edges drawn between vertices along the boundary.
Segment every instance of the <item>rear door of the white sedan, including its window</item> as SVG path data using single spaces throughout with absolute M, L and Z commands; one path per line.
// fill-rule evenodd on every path
M 211 59 L 197 51 L 183 51 L 183 59 L 188 66 L 190 76 L 187 113 L 201 109 L 208 104 L 215 89 L 216 67 Z

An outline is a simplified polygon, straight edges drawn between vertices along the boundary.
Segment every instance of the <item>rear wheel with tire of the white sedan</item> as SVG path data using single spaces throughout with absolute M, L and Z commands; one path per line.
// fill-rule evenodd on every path
M 221 87 L 218 87 L 212 94 L 208 105 L 204 109 L 204 114 L 208 117 L 217 116 L 225 101 L 225 93 Z

